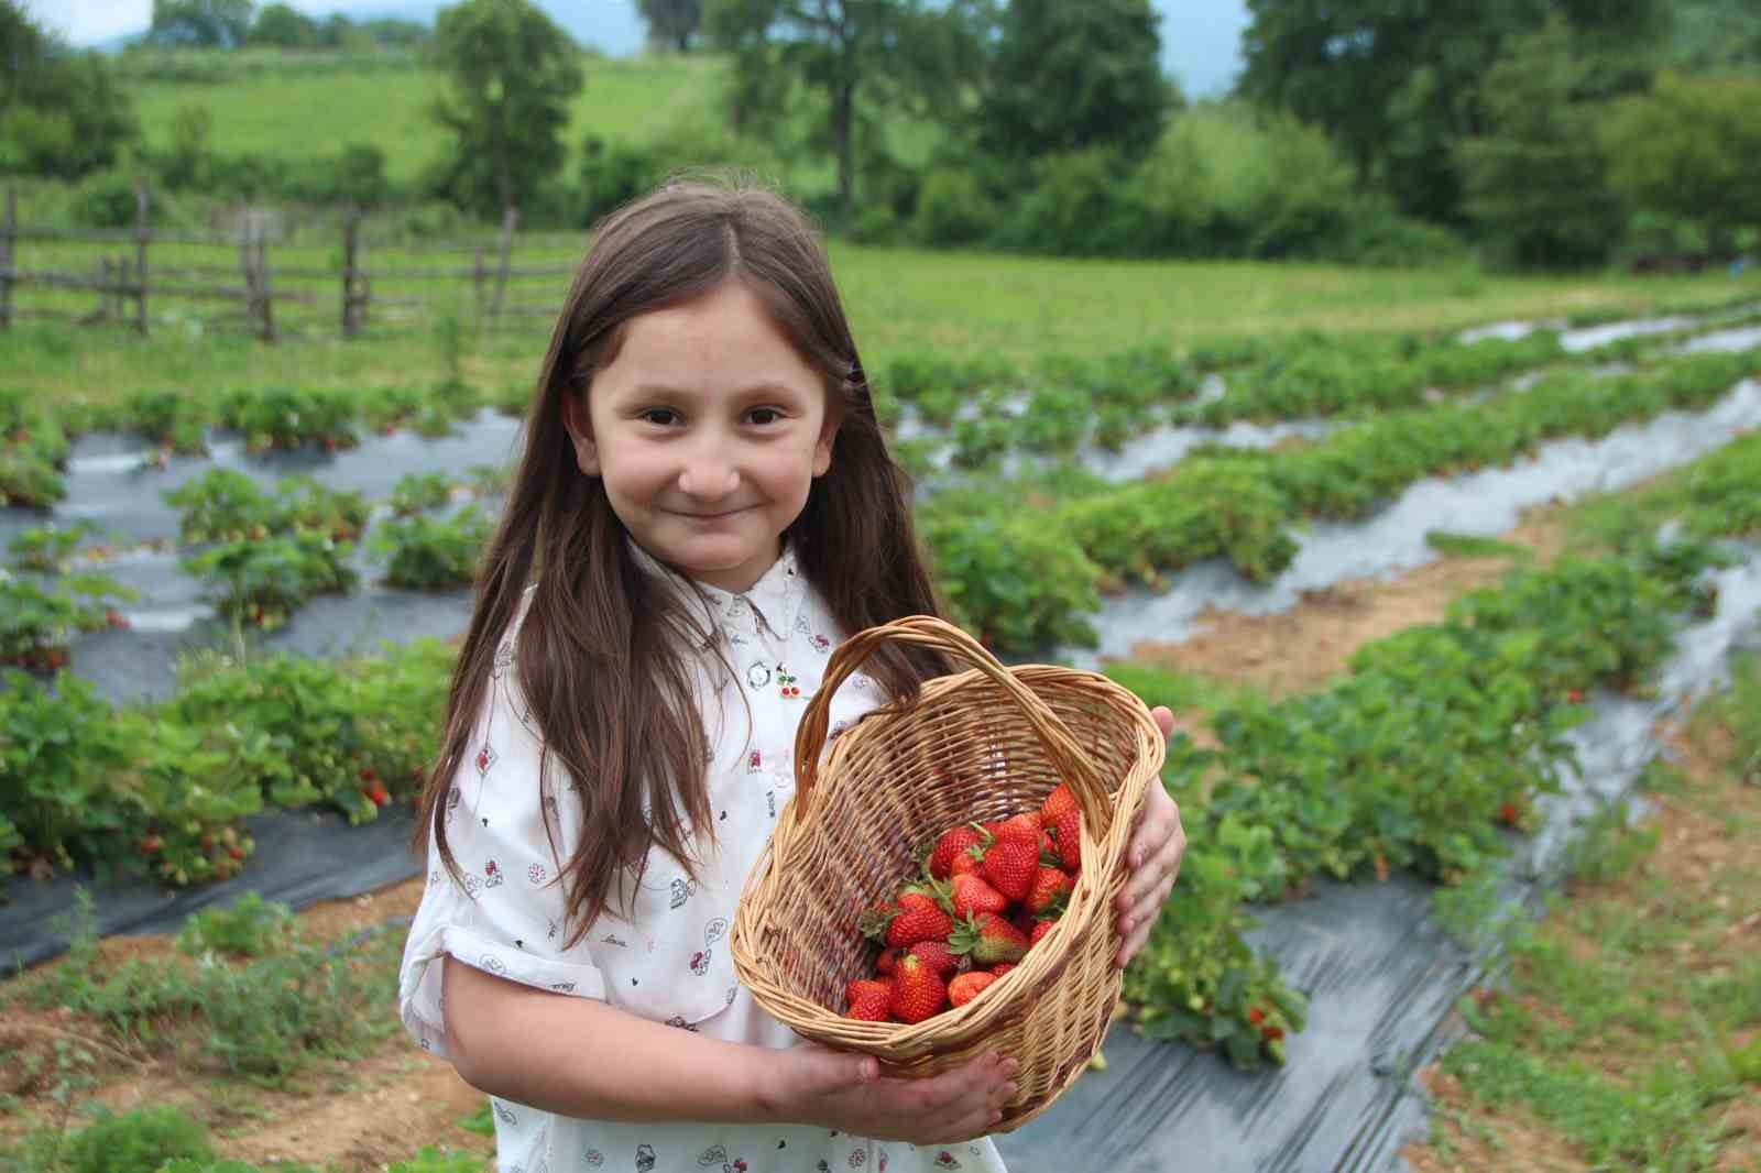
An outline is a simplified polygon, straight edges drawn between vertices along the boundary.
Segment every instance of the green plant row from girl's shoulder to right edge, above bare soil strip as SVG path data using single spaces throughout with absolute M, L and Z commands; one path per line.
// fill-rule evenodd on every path
M 1157 479 L 1111 486 L 1053 474 L 939 493 L 921 528 L 962 625 L 1027 652 L 1092 645 L 1101 592 L 1227 558 L 1263 581 L 1296 553 L 1310 518 L 1358 520 L 1428 476 L 1509 463 L 1560 437 L 1595 439 L 1669 409 L 1703 409 L 1747 375 L 1761 350 L 1671 358 L 1620 377 L 1571 372 L 1520 396 L 1386 412 L 1278 453 L 1210 449 Z

